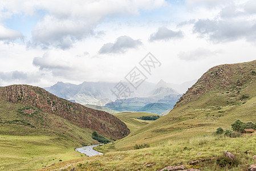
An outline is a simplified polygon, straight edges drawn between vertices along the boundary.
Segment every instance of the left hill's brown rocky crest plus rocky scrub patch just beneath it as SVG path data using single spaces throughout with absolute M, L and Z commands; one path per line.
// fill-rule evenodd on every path
M 59 117 L 71 125 L 91 129 L 114 139 L 120 139 L 129 134 L 127 126 L 115 116 L 61 99 L 39 87 L 26 85 L 0 87 L 0 99 L 1 103 L 22 104 L 14 117 L 31 120 L 36 124 L 36 128 L 54 127 L 55 120 L 50 118 Z M 56 127 L 62 125 L 59 121 L 55 124 Z

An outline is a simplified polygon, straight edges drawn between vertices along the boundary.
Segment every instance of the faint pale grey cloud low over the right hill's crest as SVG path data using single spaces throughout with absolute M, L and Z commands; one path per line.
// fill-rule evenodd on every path
M 209 56 L 214 56 L 219 54 L 220 51 L 211 51 L 208 50 L 206 48 L 197 48 L 196 50 L 193 51 L 182 51 L 178 54 L 178 58 L 182 59 L 182 60 L 201 60 L 201 59 L 205 59 Z

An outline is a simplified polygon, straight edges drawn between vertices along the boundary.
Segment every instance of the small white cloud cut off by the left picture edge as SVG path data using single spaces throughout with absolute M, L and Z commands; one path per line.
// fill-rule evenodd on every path
M 19 38 L 23 38 L 21 32 L 0 25 L 0 40 L 15 40 Z

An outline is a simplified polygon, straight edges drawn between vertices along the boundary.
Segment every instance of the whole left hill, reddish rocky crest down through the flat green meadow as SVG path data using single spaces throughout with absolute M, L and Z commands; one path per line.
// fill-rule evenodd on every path
M 74 148 L 99 143 L 93 131 L 108 139 L 129 134 L 127 125 L 107 112 L 26 85 L 0 87 L 0 125 L 0 170 L 33 170 L 81 157 Z

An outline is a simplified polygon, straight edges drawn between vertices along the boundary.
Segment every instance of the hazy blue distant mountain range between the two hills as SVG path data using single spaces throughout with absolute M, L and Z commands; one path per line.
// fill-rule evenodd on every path
M 113 112 L 112 110 L 119 112 L 150 112 L 152 110 L 148 109 L 148 107 L 155 104 L 155 106 L 161 107 L 155 110 L 154 113 L 161 114 L 167 109 L 172 109 L 181 96 L 181 93 L 174 90 L 172 86 L 176 87 L 178 91 L 184 92 L 185 89 L 192 86 L 193 82 L 186 82 L 184 84 L 170 84 L 164 82 L 164 80 L 160 80 L 157 84 L 144 82 L 127 99 L 121 100 L 117 99 L 116 95 L 112 92 L 113 87 L 117 83 L 83 82 L 76 85 L 58 82 L 54 86 L 44 89 L 58 97 L 87 105 L 87 107 L 90 105 L 94 109 L 110 113 Z M 161 105 L 156 103 L 161 103 Z M 151 105 L 145 106 L 147 104 Z M 102 108 L 103 106 L 105 108 Z

